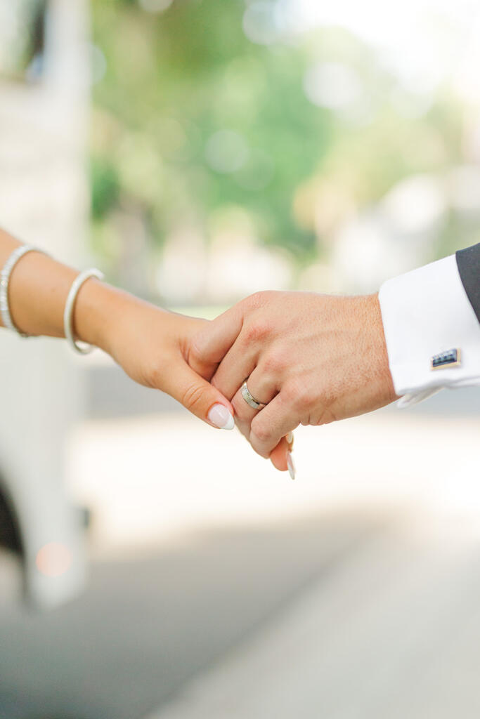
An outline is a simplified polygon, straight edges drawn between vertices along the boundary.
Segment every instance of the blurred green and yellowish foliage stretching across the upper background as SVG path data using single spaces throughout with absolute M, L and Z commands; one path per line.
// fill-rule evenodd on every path
M 106 59 L 94 86 L 97 229 L 127 205 L 145 214 L 155 242 L 178 218 L 193 219 L 208 239 L 212 213 L 234 205 L 262 242 L 302 263 L 328 247 L 312 199 L 322 188 L 343 188 L 359 209 L 400 179 L 460 156 L 460 118 L 448 95 L 405 119 L 391 101 L 397 80 L 341 29 L 265 46 L 245 36 L 245 0 L 176 0 L 163 13 L 145 12 L 137 0 L 93 0 L 92 11 Z M 307 99 L 304 73 L 322 60 L 354 68 L 367 88 L 366 119 Z M 206 154 L 225 130 L 248 149 L 228 172 Z

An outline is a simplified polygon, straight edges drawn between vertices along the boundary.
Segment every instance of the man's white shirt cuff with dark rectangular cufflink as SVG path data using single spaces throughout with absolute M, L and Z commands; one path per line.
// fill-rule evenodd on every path
M 399 405 L 448 387 L 480 385 L 480 323 L 466 295 L 455 255 L 387 280 L 379 301 Z M 432 369 L 432 359 L 456 349 L 460 362 Z

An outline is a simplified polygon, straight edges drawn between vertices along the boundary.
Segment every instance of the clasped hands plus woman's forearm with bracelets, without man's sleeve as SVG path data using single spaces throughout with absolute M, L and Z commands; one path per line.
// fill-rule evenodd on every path
M 65 337 L 70 307 L 69 334 L 210 425 L 236 423 L 255 452 L 292 477 L 299 424 L 396 399 L 378 295 L 260 292 L 209 322 L 165 311 L 91 273 L 82 280 L 1 230 L 0 267 L 0 324 L 23 336 Z

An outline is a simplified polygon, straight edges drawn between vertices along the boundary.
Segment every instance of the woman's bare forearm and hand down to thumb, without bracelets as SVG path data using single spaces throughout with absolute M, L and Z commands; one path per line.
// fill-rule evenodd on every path
M 0 230 L 0 267 L 22 244 Z M 24 334 L 64 337 L 63 315 L 77 270 L 42 252 L 27 252 L 13 266 L 8 306 Z M 0 317 L 0 326 L 1 326 Z M 232 429 L 230 402 L 207 380 L 214 367 L 189 367 L 191 342 L 203 320 L 176 315 L 96 278 L 76 294 L 71 329 L 76 339 L 104 349 L 136 382 L 163 390 L 212 426 Z

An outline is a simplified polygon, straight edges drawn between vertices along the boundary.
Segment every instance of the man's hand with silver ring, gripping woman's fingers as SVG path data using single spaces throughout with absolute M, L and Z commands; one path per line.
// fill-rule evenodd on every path
M 353 417 L 397 398 L 376 295 L 257 293 L 204 327 L 189 362 L 217 367 L 212 384 L 232 401 L 240 431 L 279 469 L 282 438 L 299 424 Z M 245 403 L 246 378 L 265 408 Z

